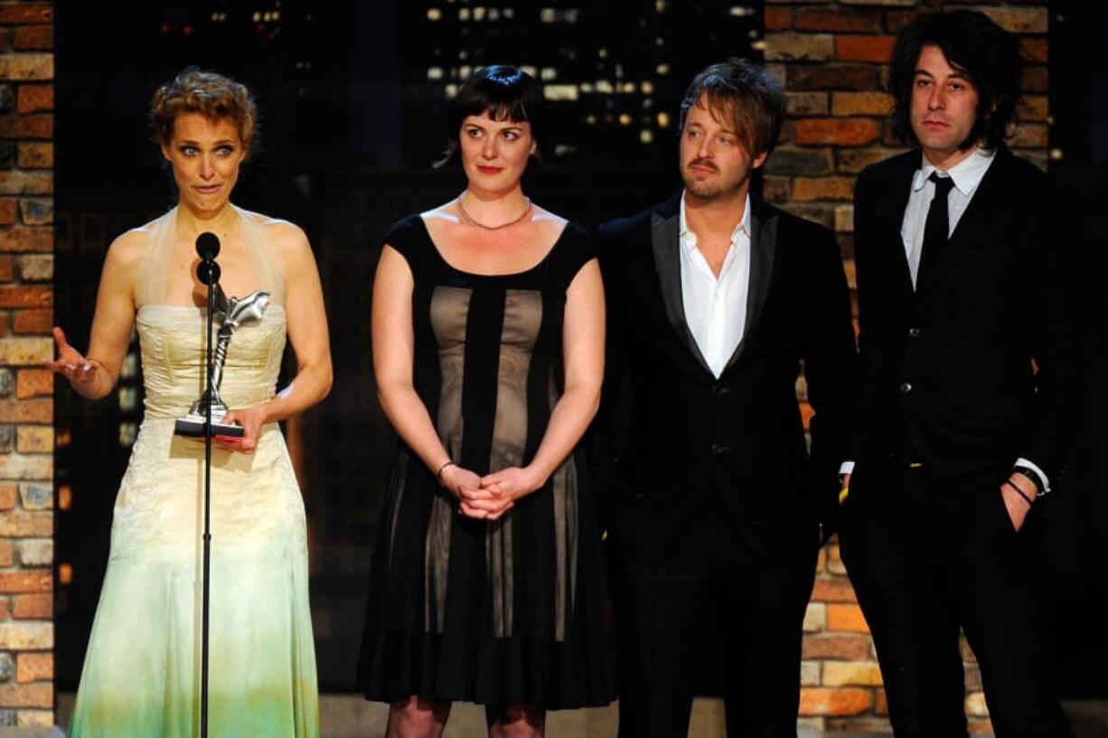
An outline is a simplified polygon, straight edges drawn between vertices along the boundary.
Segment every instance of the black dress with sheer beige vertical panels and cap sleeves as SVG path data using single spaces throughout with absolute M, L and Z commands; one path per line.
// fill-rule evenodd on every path
M 414 278 L 413 385 L 451 459 L 526 465 L 563 388 L 565 294 L 595 253 L 568 224 L 526 271 L 455 269 L 422 217 L 384 242 Z M 367 699 L 419 695 L 546 709 L 615 698 L 596 510 L 578 448 L 497 521 L 454 496 L 401 441 L 370 572 L 359 663 Z

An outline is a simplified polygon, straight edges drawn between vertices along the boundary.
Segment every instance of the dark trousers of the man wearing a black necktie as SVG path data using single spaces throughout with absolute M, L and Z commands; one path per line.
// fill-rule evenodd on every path
M 897 738 L 966 736 L 960 628 L 997 738 L 1071 736 L 1050 657 L 1049 501 L 1017 533 L 999 485 L 952 495 L 895 460 L 881 476 L 871 494 L 847 499 L 839 539 Z

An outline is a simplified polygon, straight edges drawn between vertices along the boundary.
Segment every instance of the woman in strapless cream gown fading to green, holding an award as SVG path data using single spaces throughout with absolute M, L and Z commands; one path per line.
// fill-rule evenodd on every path
M 304 503 L 276 422 L 330 387 L 318 274 L 299 228 L 229 202 L 254 133 L 245 88 L 186 71 L 154 114 L 179 203 L 109 250 L 88 357 L 55 329 L 52 368 L 99 398 L 136 326 L 146 390 L 70 736 L 198 735 L 204 444 L 173 431 L 204 387 L 194 243 L 206 230 L 222 240 L 228 296 L 270 293 L 263 319 L 234 332 L 220 387 L 245 437 L 212 454 L 209 730 L 318 736 Z M 277 393 L 286 335 L 298 373 Z

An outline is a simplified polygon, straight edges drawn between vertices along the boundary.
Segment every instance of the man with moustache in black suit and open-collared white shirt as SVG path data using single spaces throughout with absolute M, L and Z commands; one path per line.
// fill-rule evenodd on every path
M 748 192 L 782 103 L 762 69 L 709 66 L 681 104 L 684 191 L 601 228 L 609 375 L 625 367 L 632 392 L 622 448 L 608 432 L 616 381 L 594 433 L 625 738 L 685 738 L 712 621 L 728 735 L 796 735 L 802 621 L 849 450 L 855 351 L 833 234 Z

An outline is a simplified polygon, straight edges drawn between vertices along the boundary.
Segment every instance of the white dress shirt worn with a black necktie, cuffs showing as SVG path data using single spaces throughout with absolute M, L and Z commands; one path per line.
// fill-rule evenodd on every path
M 970 206 L 970 201 L 977 192 L 977 186 L 988 172 L 995 150 L 982 148 L 977 146 L 972 154 L 952 166 L 947 171 L 942 171 L 927 161 L 922 153 L 920 158 L 922 165 L 915 171 L 912 177 L 912 193 L 909 195 L 907 207 L 904 208 L 904 221 L 901 223 L 901 238 L 904 242 L 904 254 L 907 256 L 909 270 L 912 273 L 912 286 L 915 286 L 915 277 L 920 271 L 920 255 L 923 252 L 923 232 L 927 223 L 927 211 L 931 208 L 931 201 L 935 196 L 935 184 L 931 182 L 931 173 L 938 172 L 938 176 L 948 176 L 954 180 L 954 186 L 950 195 L 946 196 L 947 216 L 950 218 L 950 237 L 958 225 L 958 221 Z M 1029 467 L 1043 478 L 1045 490 L 1049 491 L 1050 480 L 1043 473 L 1034 462 L 1028 459 L 1017 459 L 1016 464 Z M 854 471 L 854 462 L 845 461 L 839 468 L 840 476 Z

